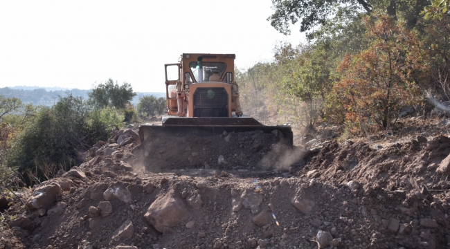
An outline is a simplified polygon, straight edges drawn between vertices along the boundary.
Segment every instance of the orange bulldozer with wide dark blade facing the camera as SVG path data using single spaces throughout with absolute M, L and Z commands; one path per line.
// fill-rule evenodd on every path
M 245 116 L 235 82 L 233 54 L 183 53 L 178 63 L 165 64 L 168 115 L 161 124 L 141 124 L 141 142 L 161 137 L 215 136 L 226 131 L 278 130 L 292 145 L 289 124 L 267 126 Z

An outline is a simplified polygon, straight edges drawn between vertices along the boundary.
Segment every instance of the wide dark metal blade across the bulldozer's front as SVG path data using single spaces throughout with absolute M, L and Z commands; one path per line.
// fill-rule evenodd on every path
M 254 118 L 168 118 L 162 125 L 141 124 L 141 142 L 165 137 L 208 137 L 231 132 L 263 131 L 282 133 L 286 145 L 293 145 L 293 133 L 289 125 L 267 126 Z

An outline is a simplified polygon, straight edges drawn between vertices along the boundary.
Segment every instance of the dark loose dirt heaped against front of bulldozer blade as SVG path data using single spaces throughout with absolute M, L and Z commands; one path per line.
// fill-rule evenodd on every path
M 171 169 L 287 169 L 289 163 L 276 163 L 285 158 L 291 147 L 281 146 L 280 131 L 263 133 L 249 131 L 226 133 L 200 138 L 155 138 L 146 140 L 134 154 L 134 165 L 142 164 L 147 171 L 161 172 Z M 279 146 L 280 149 L 275 149 Z M 267 160 L 262 158 L 267 157 Z M 270 159 L 269 159 L 270 158 Z

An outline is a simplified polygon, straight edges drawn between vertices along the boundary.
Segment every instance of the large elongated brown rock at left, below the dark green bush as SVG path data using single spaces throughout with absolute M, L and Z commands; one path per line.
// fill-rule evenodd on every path
M 36 187 L 33 196 L 26 201 L 25 208 L 28 211 L 50 208 L 60 192 L 61 186 L 58 183 L 45 181 Z

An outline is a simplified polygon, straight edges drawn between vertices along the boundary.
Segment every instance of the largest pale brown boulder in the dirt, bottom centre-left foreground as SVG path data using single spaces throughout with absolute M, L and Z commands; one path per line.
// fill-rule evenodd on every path
M 189 216 L 186 205 L 172 194 L 166 194 L 156 199 L 144 215 L 148 223 L 163 234 L 172 233 L 172 227 L 179 225 Z

